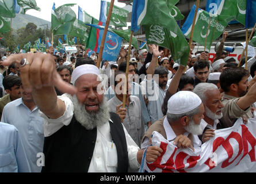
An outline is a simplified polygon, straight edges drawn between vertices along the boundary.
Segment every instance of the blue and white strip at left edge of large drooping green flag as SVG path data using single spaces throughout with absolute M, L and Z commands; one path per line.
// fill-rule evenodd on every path
M 132 20 L 131 20 L 131 30 L 133 32 L 137 32 L 140 29 L 140 25 L 138 24 L 138 20 L 140 16 L 146 12 L 147 7 L 145 7 L 145 0 L 134 0 L 132 5 Z

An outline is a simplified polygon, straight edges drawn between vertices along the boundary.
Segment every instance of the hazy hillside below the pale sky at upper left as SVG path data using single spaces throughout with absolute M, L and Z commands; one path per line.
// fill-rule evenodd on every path
M 51 28 L 51 22 L 45 21 L 41 18 L 37 18 L 34 16 L 30 16 L 28 14 L 16 14 L 16 17 L 13 18 L 12 21 L 12 28 L 13 29 L 20 29 L 22 27 L 25 27 L 28 22 L 32 22 L 37 25 L 37 28 L 44 29 L 44 26 L 40 26 L 43 24 L 48 24 L 49 28 Z

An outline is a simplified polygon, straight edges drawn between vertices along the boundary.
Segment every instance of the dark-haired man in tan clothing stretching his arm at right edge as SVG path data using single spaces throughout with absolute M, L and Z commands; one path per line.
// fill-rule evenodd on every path
M 249 71 L 243 68 L 226 68 L 220 75 L 220 86 L 224 91 L 221 102 L 224 105 L 221 121 L 225 128 L 245 116 L 253 118 L 251 105 L 256 101 L 256 78 L 248 82 Z

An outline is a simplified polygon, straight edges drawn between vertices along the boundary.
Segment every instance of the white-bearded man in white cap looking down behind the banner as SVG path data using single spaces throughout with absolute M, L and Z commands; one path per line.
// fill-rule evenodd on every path
M 167 109 L 166 116 L 152 124 L 145 133 L 142 148 L 150 142 L 153 131 L 174 141 L 178 147 L 200 147 L 201 141 L 197 135 L 202 134 L 200 122 L 204 118 L 201 99 L 191 91 L 179 91 L 170 97 Z

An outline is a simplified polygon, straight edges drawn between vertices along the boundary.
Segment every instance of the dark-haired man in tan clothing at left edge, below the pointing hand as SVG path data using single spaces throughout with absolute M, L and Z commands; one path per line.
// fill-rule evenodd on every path
M 3 87 L 6 95 L 0 99 L 0 118 L 6 104 L 15 99 L 21 98 L 21 79 L 16 75 L 7 75 L 3 78 Z

